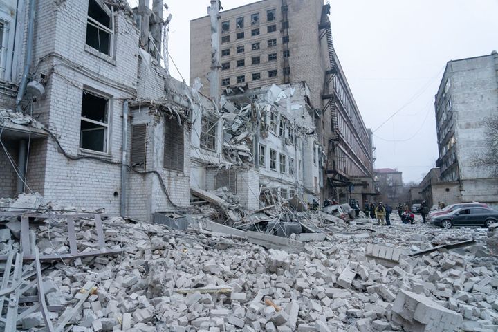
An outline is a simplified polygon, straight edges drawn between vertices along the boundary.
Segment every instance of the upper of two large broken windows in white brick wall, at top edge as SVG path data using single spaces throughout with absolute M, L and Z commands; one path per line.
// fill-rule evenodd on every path
M 89 0 L 88 17 L 86 19 L 86 45 L 100 53 L 112 56 L 113 48 L 112 12 L 96 0 Z

